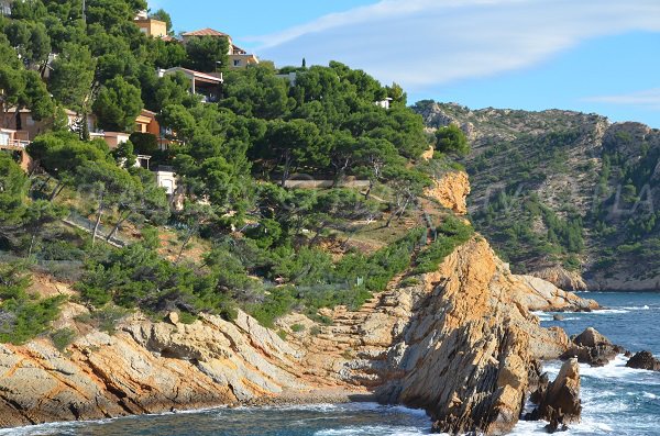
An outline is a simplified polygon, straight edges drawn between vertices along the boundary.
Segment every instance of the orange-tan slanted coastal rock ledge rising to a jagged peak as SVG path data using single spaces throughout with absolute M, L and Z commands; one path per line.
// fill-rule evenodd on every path
M 425 409 L 439 432 L 505 434 L 537 389 L 540 361 L 571 347 L 532 311 L 585 308 L 595 303 L 512 275 L 475 236 L 437 271 L 395 280 L 356 311 L 326 311 L 331 325 L 279 320 L 287 340 L 242 312 L 190 325 L 134 314 L 113 335 L 72 316 L 61 326 L 80 337 L 63 353 L 46 339 L 0 345 L 0 426 L 371 395 Z

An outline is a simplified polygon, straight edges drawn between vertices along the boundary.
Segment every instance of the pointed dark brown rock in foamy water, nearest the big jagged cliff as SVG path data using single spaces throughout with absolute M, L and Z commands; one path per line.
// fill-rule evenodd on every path
M 525 416 L 529 421 L 546 420 L 550 433 L 568 429 L 571 423 L 580 422 L 582 404 L 580 401 L 580 366 L 578 359 L 564 362 L 550 384 L 540 385 L 530 400 L 539 406 Z

